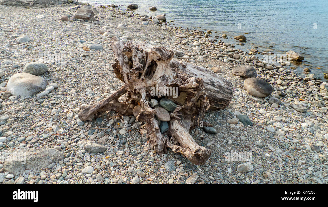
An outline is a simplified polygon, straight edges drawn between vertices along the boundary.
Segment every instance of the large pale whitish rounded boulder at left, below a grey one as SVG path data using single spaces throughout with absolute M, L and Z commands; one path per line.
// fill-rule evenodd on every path
M 7 83 L 7 91 L 14 96 L 33 96 L 44 90 L 48 82 L 30 73 L 16 73 L 10 77 Z

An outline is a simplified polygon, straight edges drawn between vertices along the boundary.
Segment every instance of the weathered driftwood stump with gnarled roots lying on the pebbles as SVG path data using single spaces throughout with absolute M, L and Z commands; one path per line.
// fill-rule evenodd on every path
M 114 73 L 125 85 L 102 101 L 81 107 L 79 118 L 91 121 L 106 111 L 114 110 L 123 115 L 132 115 L 136 111 L 136 119 L 146 123 L 149 146 L 159 155 L 167 153 L 169 147 L 193 164 L 205 164 L 211 151 L 199 146 L 189 132 L 201 124 L 212 126 L 202 122 L 204 113 L 211 106 L 222 109 L 230 103 L 233 95 L 231 82 L 205 68 L 172 60 L 173 51 L 164 47 L 145 42 L 137 46 L 131 41 L 124 44 L 116 37 L 112 38 L 111 46 L 116 58 L 112 65 Z M 154 88 L 177 91 L 174 95 L 154 94 Z M 127 98 L 119 102 L 118 98 L 125 93 Z M 169 113 L 169 129 L 161 133 L 160 121 L 155 116 L 158 106 L 152 108 L 150 100 L 160 102 L 163 98 L 174 102 L 176 107 Z

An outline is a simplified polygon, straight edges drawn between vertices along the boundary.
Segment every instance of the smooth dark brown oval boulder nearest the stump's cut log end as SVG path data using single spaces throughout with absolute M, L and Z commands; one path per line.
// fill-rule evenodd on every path
M 260 78 L 247 78 L 244 87 L 252 96 L 264 98 L 272 93 L 272 86 Z

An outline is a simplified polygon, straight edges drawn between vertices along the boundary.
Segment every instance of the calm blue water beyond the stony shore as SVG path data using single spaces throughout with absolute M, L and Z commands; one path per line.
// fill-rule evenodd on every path
M 230 38 L 244 34 L 244 51 L 258 46 L 259 51 L 274 49 L 284 53 L 294 50 L 305 56 L 304 67 L 311 73 L 328 72 L 328 0 L 82 0 L 97 5 L 117 4 L 126 9 L 136 3 L 138 13 L 166 14 L 167 21 L 188 28 L 201 27 L 219 33 L 226 32 L 224 42 L 238 44 Z M 152 12 L 150 7 L 158 10 Z M 316 25 L 316 28 L 314 26 Z M 254 45 L 251 45 L 254 43 Z M 268 47 L 274 46 L 273 48 Z M 295 65 L 294 65 L 295 66 Z M 303 67 L 301 67 L 303 66 Z M 320 69 L 318 69 L 319 67 Z

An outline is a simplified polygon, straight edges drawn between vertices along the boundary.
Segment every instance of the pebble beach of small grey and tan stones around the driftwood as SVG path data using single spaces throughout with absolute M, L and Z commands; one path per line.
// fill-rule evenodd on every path
M 96 7 L 99 13 L 94 22 L 73 21 L 74 12 L 67 11 L 72 6 L 10 7 L 6 21 L 1 20 L 1 96 L 8 79 L 38 54 L 65 55 L 65 64 L 47 63 L 49 71 L 42 77 L 58 85 L 48 94 L 0 99 L 1 138 L 6 138 L 1 152 L 56 149 L 63 158 L 41 170 L 17 175 L 6 173 L 0 161 L 0 183 L 180 184 L 194 173 L 198 184 L 328 183 L 328 92 L 320 88 L 319 80 L 303 79 L 282 66 L 266 69 L 256 61 L 257 77 L 274 88 L 271 96 L 279 100 L 276 106 L 269 97 L 250 95 L 244 79 L 233 75 L 232 69 L 240 63 L 250 65 L 253 54 L 224 43 L 225 39 L 217 38 L 215 44 L 205 32 L 154 25 L 153 20 L 143 21 L 129 11 L 107 7 Z M 1 10 L 4 14 L 6 9 Z M 39 15 L 45 17 L 39 19 Z M 63 15 L 69 15 L 70 21 L 59 20 Z M 118 29 L 122 23 L 126 28 Z M 31 41 L 17 43 L 17 35 L 28 35 Z M 148 148 L 143 123 L 134 117 L 109 113 L 93 122 L 78 119 L 79 107 L 107 97 L 122 85 L 111 67 L 114 58 L 109 41 L 116 35 L 122 41 L 149 41 L 173 49 L 176 60 L 204 66 L 233 83 L 234 96 L 228 107 L 209 110 L 204 117 L 217 134 L 206 134 L 199 127 L 191 132 L 197 143 L 212 150 L 205 165 L 193 165 L 171 150 L 164 157 L 157 155 Z M 100 44 L 102 50 L 83 49 L 91 44 Z M 293 104 L 305 106 L 307 112 L 296 111 Z M 240 114 L 246 114 L 254 125 L 244 125 Z M 101 144 L 106 149 L 90 152 L 86 144 Z M 252 155 L 254 169 L 238 172 L 237 166 L 245 162 L 226 161 L 231 151 Z

